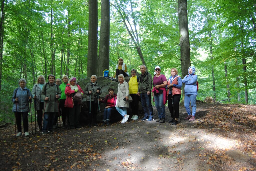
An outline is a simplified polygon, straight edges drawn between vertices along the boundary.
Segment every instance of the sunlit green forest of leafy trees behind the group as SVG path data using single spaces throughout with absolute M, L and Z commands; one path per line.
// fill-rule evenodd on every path
M 173 67 L 185 76 L 178 7 L 177 0 L 2 0 L 0 123 L 14 118 L 20 78 L 32 89 L 39 75 L 114 76 L 120 57 L 128 71 L 146 64 L 152 74 L 161 66 L 167 78 Z M 256 2 L 188 0 L 187 20 L 197 99 L 255 104 Z

